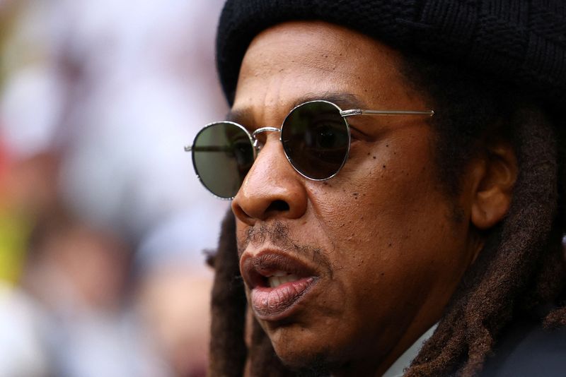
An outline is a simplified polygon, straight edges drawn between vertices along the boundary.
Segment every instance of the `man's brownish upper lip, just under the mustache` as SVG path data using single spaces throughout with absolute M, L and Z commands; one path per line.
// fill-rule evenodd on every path
M 318 275 L 315 268 L 308 266 L 299 258 L 295 258 L 287 251 L 277 250 L 265 250 L 254 255 L 244 253 L 240 261 L 240 270 L 243 280 L 250 289 L 267 286 L 266 278 L 277 271 L 284 271 L 298 277 Z

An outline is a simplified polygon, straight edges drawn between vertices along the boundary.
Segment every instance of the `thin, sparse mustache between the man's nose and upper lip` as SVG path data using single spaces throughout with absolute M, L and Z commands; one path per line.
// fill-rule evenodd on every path
M 328 258 L 328 251 L 317 246 L 299 244 L 299 242 L 295 241 L 290 236 L 287 222 L 282 221 L 248 227 L 243 239 L 238 238 L 238 258 L 242 257 L 248 245 L 252 244 L 258 247 L 265 244 L 265 242 L 270 242 L 273 246 L 277 246 L 284 251 L 289 251 L 289 253 L 306 256 L 320 268 L 323 268 L 330 277 L 332 277 L 333 270 L 336 268 L 336 266 L 330 262 L 330 258 Z

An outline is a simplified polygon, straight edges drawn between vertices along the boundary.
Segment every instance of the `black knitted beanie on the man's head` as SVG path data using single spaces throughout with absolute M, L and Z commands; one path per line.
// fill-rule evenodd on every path
M 288 20 L 343 25 L 566 104 L 566 0 L 228 0 L 216 64 L 230 104 L 251 40 Z

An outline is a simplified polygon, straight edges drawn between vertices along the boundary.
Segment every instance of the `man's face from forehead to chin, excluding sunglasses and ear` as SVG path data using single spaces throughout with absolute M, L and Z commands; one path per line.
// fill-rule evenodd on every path
M 250 44 L 233 114 L 253 130 L 279 127 L 303 99 L 429 109 L 399 61 L 334 25 L 278 25 Z M 439 319 L 473 259 L 469 195 L 442 193 L 426 116 L 348 121 L 350 155 L 328 181 L 295 172 L 279 133 L 268 133 L 232 208 L 250 308 L 279 357 L 337 374 L 382 373 Z M 454 208 L 466 220 L 454 220 Z

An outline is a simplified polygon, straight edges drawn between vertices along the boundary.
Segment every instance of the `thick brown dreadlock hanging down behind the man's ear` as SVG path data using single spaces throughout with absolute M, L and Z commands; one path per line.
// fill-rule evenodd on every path
M 513 316 L 521 314 L 521 293 L 537 287 L 548 271 L 557 270 L 548 265 L 558 261 L 563 270 L 560 247 L 548 244 L 550 239 L 554 246 L 557 241 L 560 246 L 560 238 L 550 237 L 558 207 L 557 141 L 540 110 L 526 104 L 521 108 L 513 120 L 519 177 L 509 213 L 500 233 L 492 233 L 478 261 L 468 270 L 439 328 L 412 362 L 408 376 L 475 376 L 497 335 Z M 543 292 L 543 299 L 555 299 L 563 286 L 550 288 Z M 540 296 L 531 294 L 529 300 L 542 303 L 542 299 L 537 300 Z M 450 338 L 461 340 L 456 354 L 439 342 Z M 444 362 L 446 359 L 466 361 L 455 369 L 453 363 Z

